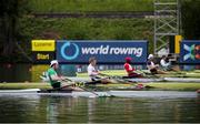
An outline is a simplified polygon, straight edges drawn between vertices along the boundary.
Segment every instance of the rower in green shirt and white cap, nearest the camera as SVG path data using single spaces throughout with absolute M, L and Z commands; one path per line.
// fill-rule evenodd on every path
M 80 89 L 77 89 L 77 87 L 73 87 L 71 86 L 72 84 L 68 84 L 67 81 L 64 81 L 66 79 L 63 76 L 59 76 L 57 71 L 59 69 L 59 63 L 57 60 L 52 60 L 51 63 L 50 63 L 50 69 L 47 71 L 47 74 L 49 76 L 49 81 L 50 81 L 50 84 L 51 86 L 54 89 L 54 90 L 61 90 L 61 89 L 68 89 L 68 90 L 80 90 Z M 67 83 L 67 84 L 61 84 L 61 82 L 63 83 Z

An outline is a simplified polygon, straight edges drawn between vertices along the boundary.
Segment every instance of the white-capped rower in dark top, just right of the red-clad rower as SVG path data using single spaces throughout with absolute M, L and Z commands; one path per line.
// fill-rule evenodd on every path
M 153 54 L 149 54 L 148 56 L 148 62 L 147 62 L 147 68 L 152 74 L 167 74 L 166 72 L 159 70 L 159 64 L 154 64 L 153 62 Z

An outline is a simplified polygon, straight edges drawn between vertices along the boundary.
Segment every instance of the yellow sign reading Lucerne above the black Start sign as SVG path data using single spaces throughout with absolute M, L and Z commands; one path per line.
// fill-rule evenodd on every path
M 56 42 L 54 40 L 32 40 L 31 46 L 32 51 L 54 51 Z

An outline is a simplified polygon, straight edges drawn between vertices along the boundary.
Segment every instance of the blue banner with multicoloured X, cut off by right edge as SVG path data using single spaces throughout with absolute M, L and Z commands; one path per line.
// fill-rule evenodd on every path
M 200 40 L 183 40 L 180 48 L 180 63 L 200 63 Z

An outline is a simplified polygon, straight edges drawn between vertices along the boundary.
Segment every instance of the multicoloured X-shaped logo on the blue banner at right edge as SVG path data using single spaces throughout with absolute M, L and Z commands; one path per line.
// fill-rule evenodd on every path
M 192 45 L 187 45 L 184 44 L 183 45 L 183 49 L 188 52 L 184 56 L 183 56 L 183 60 L 199 60 L 200 59 L 200 45 L 196 45 L 196 44 L 192 44 Z

